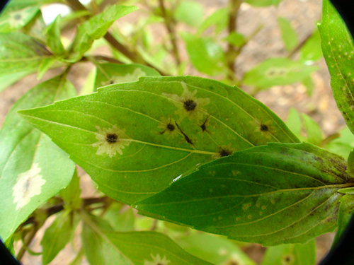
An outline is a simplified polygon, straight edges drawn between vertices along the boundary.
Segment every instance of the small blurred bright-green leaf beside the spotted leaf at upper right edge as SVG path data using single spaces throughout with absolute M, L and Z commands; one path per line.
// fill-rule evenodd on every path
M 319 30 L 315 29 L 312 36 L 300 49 L 299 61 L 317 61 L 323 57 Z

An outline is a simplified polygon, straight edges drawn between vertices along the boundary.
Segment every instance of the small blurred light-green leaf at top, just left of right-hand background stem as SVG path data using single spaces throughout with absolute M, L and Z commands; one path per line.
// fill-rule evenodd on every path
M 228 17 L 229 8 L 217 9 L 217 11 L 205 18 L 205 20 L 199 26 L 198 35 L 200 35 L 200 33 L 202 33 L 204 30 L 207 30 L 207 28 L 210 28 L 212 25 L 215 25 L 215 33 L 218 35 L 227 27 Z

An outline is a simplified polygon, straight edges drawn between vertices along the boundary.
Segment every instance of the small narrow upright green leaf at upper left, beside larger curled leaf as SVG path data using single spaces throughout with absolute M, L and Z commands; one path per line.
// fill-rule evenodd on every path
M 60 40 L 60 15 L 47 28 L 45 36 L 47 37 L 47 46 L 50 47 L 52 52 L 57 56 L 64 55 L 65 51 L 62 41 Z

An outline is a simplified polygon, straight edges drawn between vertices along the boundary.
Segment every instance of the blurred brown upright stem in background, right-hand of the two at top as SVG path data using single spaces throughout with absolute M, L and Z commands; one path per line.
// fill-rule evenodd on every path
M 237 29 L 237 15 L 239 13 L 239 8 L 242 4 L 242 1 L 243 0 L 229 0 L 230 11 L 229 11 L 229 23 L 227 27 L 229 34 L 234 33 Z M 236 47 L 231 43 L 227 45 L 226 57 L 227 57 L 227 66 L 229 67 L 230 71 L 235 74 L 236 73 L 235 59 L 237 57 L 237 51 L 236 51 Z M 234 76 L 229 75 L 229 78 L 234 79 Z

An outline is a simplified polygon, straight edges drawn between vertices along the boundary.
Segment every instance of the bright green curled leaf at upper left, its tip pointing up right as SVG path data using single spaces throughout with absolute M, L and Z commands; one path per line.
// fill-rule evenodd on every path
M 90 49 L 94 40 L 98 40 L 107 33 L 115 20 L 135 10 L 137 10 L 136 6 L 113 5 L 79 25 L 71 47 L 72 54 L 69 61 L 79 60 Z

